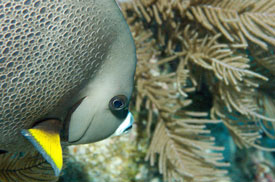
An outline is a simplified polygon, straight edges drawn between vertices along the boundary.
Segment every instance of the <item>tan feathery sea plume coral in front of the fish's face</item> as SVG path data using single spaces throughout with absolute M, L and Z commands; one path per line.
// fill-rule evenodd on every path
M 261 143 L 263 132 L 275 137 L 274 1 L 134 0 L 121 7 L 137 46 L 137 117 L 152 135 L 146 159 L 153 164 L 159 154 L 165 180 L 229 180 L 209 124 L 222 122 L 241 148 L 274 151 Z M 210 104 L 195 102 L 198 92 L 209 92 Z

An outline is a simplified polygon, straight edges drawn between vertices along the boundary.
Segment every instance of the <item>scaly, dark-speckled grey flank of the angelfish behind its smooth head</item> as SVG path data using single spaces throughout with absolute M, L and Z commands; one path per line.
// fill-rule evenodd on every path
M 0 1 L 1 146 L 100 72 L 116 32 L 97 2 Z

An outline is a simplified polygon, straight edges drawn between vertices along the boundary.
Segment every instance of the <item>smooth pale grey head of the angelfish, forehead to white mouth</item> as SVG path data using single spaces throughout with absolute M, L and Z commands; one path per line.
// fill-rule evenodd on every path
M 118 7 L 117 7 L 118 8 Z M 133 116 L 129 102 L 134 86 L 136 49 L 120 11 L 114 11 L 116 37 L 101 71 L 78 94 L 79 102 L 66 124 L 70 144 L 85 144 L 129 130 Z M 120 21 L 120 22 L 119 22 Z M 118 23 L 119 22 L 119 23 Z

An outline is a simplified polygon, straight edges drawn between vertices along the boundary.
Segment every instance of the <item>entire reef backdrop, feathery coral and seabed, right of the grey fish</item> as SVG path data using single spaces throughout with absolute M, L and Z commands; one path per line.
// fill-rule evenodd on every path
M 66 149 L 59 182 L 274 182 L 275 1 L 119 1 L 132 131 Z

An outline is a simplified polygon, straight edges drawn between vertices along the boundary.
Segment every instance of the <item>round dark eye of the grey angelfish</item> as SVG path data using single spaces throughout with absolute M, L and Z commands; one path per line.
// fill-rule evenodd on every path
M 114 96 L 109 102 L 111 112 L 118 118 L 126 118 L 128 114 L 128 99 L 125 95 Z

